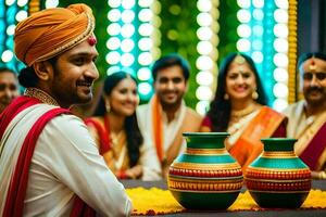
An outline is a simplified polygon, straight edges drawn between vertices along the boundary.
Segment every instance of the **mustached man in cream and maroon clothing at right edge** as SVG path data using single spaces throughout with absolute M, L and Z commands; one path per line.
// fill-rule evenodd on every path
M 302 54 L 298 69 L 304 99 L 284 112 L 289 117 L 287 137 L 298 139 L 294 152 L 312 177 L 326 179 L 326 54 Z

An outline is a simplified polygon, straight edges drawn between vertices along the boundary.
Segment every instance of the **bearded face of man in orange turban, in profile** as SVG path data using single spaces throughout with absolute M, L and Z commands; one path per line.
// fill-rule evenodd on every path
M 92 84 L 99 77 L 95 64 L 97 56 L 96 47 L 86 40 L 58 58 L 50 94 L 62 107 L 87 103 L 92 99 Z

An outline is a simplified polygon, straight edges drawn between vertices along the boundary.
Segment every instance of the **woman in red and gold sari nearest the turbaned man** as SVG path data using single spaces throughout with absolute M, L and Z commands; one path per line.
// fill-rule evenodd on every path
M 161 177 L 155 151 L 143 143 L 138 128 L 137 82 L 124 72 L 108 76 L 95 116 L 86 124 L 106 165 L 120 179 L 156 180 Z

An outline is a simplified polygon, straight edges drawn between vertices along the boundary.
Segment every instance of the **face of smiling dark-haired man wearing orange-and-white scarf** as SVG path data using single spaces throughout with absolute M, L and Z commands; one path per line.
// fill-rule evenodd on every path
M 183 68 L 178 65 L 160 69 L 154 88 L 162 106 L 179 105 L 187 90 Z

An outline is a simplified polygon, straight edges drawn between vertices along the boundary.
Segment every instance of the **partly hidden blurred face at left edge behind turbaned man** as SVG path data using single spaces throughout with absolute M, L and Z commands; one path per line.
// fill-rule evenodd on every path
M 11 72 L 0 73 L 0 112 L 18 95 L 17 78 Z

